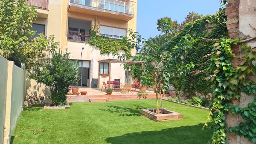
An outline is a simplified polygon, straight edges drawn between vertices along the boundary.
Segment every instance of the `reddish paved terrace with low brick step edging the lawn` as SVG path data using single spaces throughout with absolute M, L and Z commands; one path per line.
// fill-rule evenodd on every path
M 102 89 L 103 90 L 103 89 Z M 139 99 L 137 97 L 137 93 L 139 89 L 136 89 L 136 91 L 125 94 L 121 93 L 121 91 L 115 91 L 112 93 L 112 95 L 106 95 L 105 91 L 101 91 L 101 89 L 92 89 L 92 88 L 80 88 L 79 92 L 81 91 L 87 91 L 87 95 L 67 95 L 67 102 L 89 102 L 89 100 L 93 100 L 91 102 L 103 102 L 103 101 L 123 101 L 123 100 L 134 100 Z M 147 91 L 148 92 L 148 99 L 156 98 L 156 94 L 153 91 Z

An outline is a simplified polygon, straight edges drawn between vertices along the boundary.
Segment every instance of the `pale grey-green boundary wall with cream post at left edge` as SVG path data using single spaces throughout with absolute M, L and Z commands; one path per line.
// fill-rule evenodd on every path
M 0 144 L 9 144 L 23 106 L 26 72 L 2 56 L 0 66 Z

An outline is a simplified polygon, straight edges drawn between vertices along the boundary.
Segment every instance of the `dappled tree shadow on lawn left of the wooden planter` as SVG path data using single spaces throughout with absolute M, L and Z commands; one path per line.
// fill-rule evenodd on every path
M 140 109 L 146 109 L 145 107 L 134 105 L 135 108 L 130 107 L 119 107 L 119 106 L 105 106 L 110 109 L 99 109 L 101 111 L 120 113 L 119 116 L 140 116 Z M 125 114 L 124 114 L 125 113 Z

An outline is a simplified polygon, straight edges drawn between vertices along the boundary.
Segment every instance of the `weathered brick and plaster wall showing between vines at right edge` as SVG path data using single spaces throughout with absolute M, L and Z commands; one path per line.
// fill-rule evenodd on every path
M 256 0 L 227 0 L 226 15 L 227 15 L 227 29 L 230 38 L 241 38 L 242 40 L 250 39 L 247 41 L 248 46 L 255 48 L 256 39 Z M 237 56 L 242 56 L 243 52 L 238 45 L 233 45 L 232 50 Z M 234 67 L 239 63 L 237 58 L 232 59 Z M 256 78 L 251 77 L 255 82 Z M 254 100 L 254 95 L 246 95 L 241 93 L 241 98 L 233 100 L 233 105 L 239 107 L 246 107 L 249 102 Z M 226 115 L 226 122 L 228 127 L 237 126 L 241 121 L 244 121 L 240 115 Z M 227 144 L 253 144 L 247 138 L 239 135 L 227 133 Z

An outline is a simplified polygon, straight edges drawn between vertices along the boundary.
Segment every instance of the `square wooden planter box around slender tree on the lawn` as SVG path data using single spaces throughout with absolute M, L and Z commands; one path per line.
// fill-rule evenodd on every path
M 157 109 L 140 109 L 140 114 L 154 121 L 171 121 L 183 119 L 182 114 L 163 108 L 163 114 L 156 114 Z M 159 109 L 161 112 L 161 109 Z

